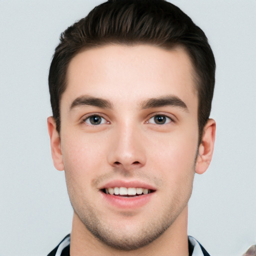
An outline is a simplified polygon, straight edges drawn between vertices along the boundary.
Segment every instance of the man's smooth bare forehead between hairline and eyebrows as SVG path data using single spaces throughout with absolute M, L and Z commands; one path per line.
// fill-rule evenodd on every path
M 81 95 L 109 100 L 141 101 L 174 94 L 189 105 L 196 97 L 191 61 L 181 47 L 106 45 L 75 55 L 67 69 L 67 88 L 61 101 Z M 60 104 L 61 105 L 61 104 Z

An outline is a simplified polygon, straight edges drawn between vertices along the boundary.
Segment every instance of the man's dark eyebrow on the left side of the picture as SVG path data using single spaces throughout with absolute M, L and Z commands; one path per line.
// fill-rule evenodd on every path
M 84 105 L 97 106 L 100 108 L 109 108 L 109 109 L 113 108 L 112 103 L 107 99 L 83 95 L 75 98 L 72 101 L 69 110 L 73 109 L 74 107 L 79 107 Z

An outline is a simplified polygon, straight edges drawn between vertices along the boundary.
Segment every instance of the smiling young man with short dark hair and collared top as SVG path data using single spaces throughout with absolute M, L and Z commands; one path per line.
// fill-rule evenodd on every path
M 61 34 L 47 122 L 74 213 L 48 255 L 208 255 L 187 203 L 212 157 L 214 73 L 203 31 L 164 0 L 110 0 Z

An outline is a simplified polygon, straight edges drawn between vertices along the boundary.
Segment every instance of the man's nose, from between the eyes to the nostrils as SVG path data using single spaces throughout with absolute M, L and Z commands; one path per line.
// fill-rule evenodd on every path
M 126 171 L 144 166 L 146 154 L 140 129 L 131 124 L 116 127 L 111 136 L 107 160 L 113 167 Z

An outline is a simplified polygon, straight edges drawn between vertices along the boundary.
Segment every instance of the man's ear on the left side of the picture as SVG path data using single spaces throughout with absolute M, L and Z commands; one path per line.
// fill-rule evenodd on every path
M 64 164 L 60 146 L 60 136 L 56 130 L 56 122 L 52 116 L 47 118 L 48 133 L 50 136 L 50 149 L 53 164 L 57 170 L 63 170 Z

